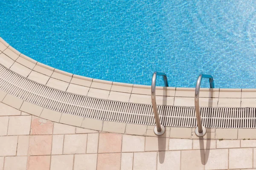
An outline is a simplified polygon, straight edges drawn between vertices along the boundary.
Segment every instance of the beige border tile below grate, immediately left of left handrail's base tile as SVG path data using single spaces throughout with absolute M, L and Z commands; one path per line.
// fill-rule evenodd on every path
M 147 125 L 137 125 L 137 124 L 126 124 L 125 134 L 132 135 L 145 135 L 147 131 Z

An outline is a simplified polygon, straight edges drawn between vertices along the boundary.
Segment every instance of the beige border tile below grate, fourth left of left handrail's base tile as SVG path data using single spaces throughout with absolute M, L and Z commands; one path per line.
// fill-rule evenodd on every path
M 82 125 L 83 119 L 84 119 L 84 117 L 82 117 L 82 116 L 76 116 L 73 114 L 62 113 L 60 123 L 80 127 Z

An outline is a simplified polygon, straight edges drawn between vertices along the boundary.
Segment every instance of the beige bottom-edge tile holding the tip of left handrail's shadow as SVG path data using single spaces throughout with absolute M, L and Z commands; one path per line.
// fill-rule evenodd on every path
M 157 170 L 179 170 L 180 151 L 159 152 L 157 156 Z

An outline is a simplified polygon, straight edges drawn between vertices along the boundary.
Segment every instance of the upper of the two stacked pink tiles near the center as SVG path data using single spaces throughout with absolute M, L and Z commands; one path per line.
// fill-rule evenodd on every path
M 99 134 L 98 153 L 121 152 L 122 135 L 114 133 Z

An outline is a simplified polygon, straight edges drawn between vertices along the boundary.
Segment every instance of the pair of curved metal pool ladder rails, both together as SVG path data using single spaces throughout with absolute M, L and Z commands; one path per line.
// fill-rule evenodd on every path
M 156 103 L 156 79 L 157 75 L 163 76 L 163 82 L 165 87 L 168 87 L 168 81 L 167 76 L 164 72 L 161 71 L 155 71 L 152 76 L 152 82 L 151 82 L 151 102 L 152 107 L 154 111 L 154 118 L 156 122 L 156 126 L 154 127 L 154 133 L 157 136 L 163 135 L 165 133 L 165 127 L 160 124 L 159 114 L 157 111 L 157 103 Z M 209 79 L 210 88 L 214 88 L 214 79 L 212 75 L 210 74 L 200 74 L 198 76 L 198 80 L 196 82 L 195 86 L 195 112 L 196 112 L 196 119 L 198 126 L 195 128 L 195 135 L 198 137 L 203 137 L 206 134 L 206 128 L 202 126 L 202 119 L 201 119 L 201 113 L 200 113 L 200 106 L 199 106 L 199 92 L 200 92 L 200 85 L 202 78 Z

